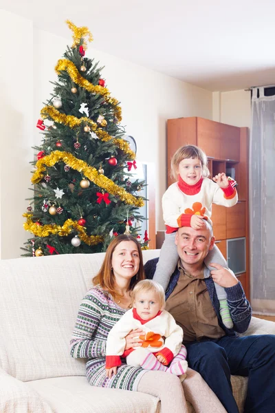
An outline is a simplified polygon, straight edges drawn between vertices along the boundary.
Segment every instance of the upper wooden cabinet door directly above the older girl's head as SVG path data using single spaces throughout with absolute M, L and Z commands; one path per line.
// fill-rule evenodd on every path
M 197 146 L 208 158 L 221 159 L 221 123 L 197 118 Z

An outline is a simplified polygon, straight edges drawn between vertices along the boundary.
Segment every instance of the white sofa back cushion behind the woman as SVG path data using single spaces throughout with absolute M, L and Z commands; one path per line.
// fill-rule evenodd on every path
M 158 250 L 143 251 L 144 260 Z M 0 261 L 0 368 L 21 381 L 85 375 L 69 355 L 81 299 L 104 253 Z

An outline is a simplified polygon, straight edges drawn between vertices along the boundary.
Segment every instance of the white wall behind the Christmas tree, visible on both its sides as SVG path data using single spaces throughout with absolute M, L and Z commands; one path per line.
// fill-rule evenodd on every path
M 39 129 L 35 127 L 36 121 L 43 102 L 50 98 L 52 85 L 49 81 L 56 80 L 56 62 L 61 59 L 66 45 L 72 43 L 72 38 L 69 29 L 67 39 L 63 39 L 32 28 L 30 21 L 14 14 L 1 11 L 1 17 L 3 33 L 10 31 L 10 28 L 16 29 L 14 37 L 6 45 L 6 52 L 7 55 L 10 54 L 8 48 L 12 45 L 12 55 L 17 59 L 10 59 L 12 69 L 6 68 L 1 76 L 8 85 L 8 88 L 5 87 L 5 100 L 10 103 L 5 108 L 5 118 L 13 118 L 14 113 L 20 114 L 20 123 L 18 120 L 15 127 L 13 121 L 10 125 L 5 125 L 5 134 L 1 134 L 2 141 L 3 136 L 6 136 L 8 145 L 13 140 L 18 146 L 14 152 L 8 148 L 6 165 L 1 167 L 2 246 L 5 242 L 1 257 L 8 258 L 20 255 L 19 247 L 28 237 L 22 229 L 21 214 L 28 207 L 24 198 L 28 197 L 30 186 L 28 162 L 33 158 L 30 147 L 33 146 L 32 140 L 34 145 L 41 142 Z M 1 36 L 1 39 L 5 37 Z M 4 50 L 3 56 L 5 54 Z M 94 49 L 93 43 L 89 45 L 86 56 L 94 57 L 105 66 L 102 76 L 106 78 L 112 96 L 121 102 L 122 125 L 126 125 L 127 134 L 133 136 L 137 142 L 137 160 L 155 164 L 156 222 L 157 229 L 164 229 L 160 204 L 166 189 L 166 120 L 181 116 L 211 119 L 212 92 L 100 52 Z M 5 56 L 5 64 L 7 62 Z M 14 82 L 14 79 L 17 81 Z M 10 176 L 10 153 L 14 158 L 12 184 L 5 182 L 6 176 Z M 17 181 L 17 184 L 14 181 Z M 4 197 L 12 197 L 12 201 L 5 204 Z M 15 220 L 15 217 L 16 222 L 10 228 L 8 222 Z

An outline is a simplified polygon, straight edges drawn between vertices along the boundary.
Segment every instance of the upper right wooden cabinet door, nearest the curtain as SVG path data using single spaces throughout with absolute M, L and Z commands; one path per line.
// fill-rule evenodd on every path
M 240 160 L 240 128 L 221 123 L 221 159 Z

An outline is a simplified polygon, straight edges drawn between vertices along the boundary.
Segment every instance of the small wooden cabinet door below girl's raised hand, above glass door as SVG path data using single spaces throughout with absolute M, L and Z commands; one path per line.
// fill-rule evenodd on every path
M 226 238 L 240 238 L 245 235 L 245 202 L 237 202 L 226 211 Z

